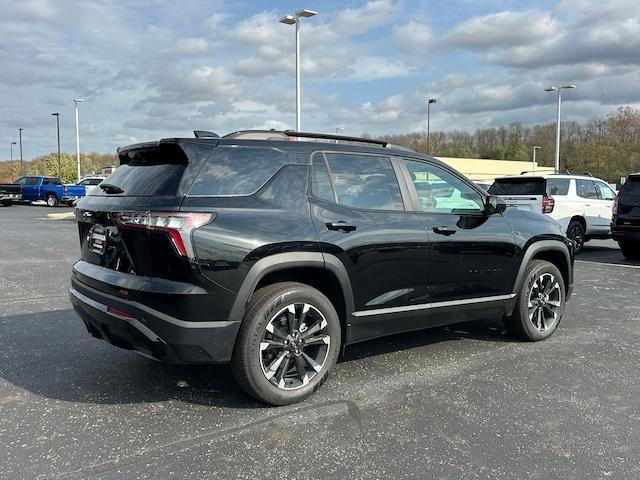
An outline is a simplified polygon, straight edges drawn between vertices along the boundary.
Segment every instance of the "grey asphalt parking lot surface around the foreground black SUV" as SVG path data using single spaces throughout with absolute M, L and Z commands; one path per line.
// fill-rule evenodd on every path
M 499 322 L 371 341 L 267 408 L 225 367 L 89 337 L 75 224 L 51 212 L 0 209 L 0 478 L 640 478 L 640 264 L 611 241 L 579 256 L 545 342 Z

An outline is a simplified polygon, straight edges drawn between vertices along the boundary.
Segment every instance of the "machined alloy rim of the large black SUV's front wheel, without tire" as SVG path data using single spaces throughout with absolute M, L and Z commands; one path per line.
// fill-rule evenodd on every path
M 558 322 L 562 291 L 551 273 L 543 273 L 531 287 L 527 303 L 529 321 L 539 332 L 545 332 Z

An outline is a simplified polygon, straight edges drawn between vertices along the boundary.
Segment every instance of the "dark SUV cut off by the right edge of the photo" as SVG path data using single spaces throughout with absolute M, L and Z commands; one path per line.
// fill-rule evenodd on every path
M 640 173 L 629 175 L 613 204 L 611 233 L 622 254 L 640 260 Z

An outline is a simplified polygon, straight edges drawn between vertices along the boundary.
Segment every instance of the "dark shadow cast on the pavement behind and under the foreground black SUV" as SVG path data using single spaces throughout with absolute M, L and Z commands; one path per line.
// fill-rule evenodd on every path
M 2 318 L 0 338 L 0 377 L 43 397 L 96 404 L 177 400 L 265 407 L 240 389 L 228 366 L 167 365 L 113 347 L 90 337 L 70 309 Z M 500 323 L 476 322 L 363 342 L 348 347 L 339 363 L 460 338 L 511 341 Z

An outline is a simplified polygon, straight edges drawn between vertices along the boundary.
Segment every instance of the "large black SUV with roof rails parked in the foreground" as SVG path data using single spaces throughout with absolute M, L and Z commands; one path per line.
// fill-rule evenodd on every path
M 504 318 L 542 340 L 571 293 L 555 221 L 383 141 L 196 132 L 118 154 L 76 208 L 71 300 L 89 333 L 230 362 L 267 403 L 306 398 L 345 345 L 383 335 Z

